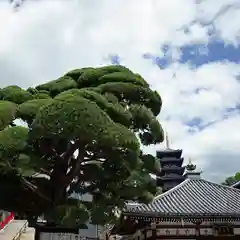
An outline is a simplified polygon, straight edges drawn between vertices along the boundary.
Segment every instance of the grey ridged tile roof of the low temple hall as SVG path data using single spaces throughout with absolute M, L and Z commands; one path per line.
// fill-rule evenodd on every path
M 203 179 L 187 179 L 150 204 L 128 206 L 125 213 L 143 216 L 239 216 L 240 190 Z

